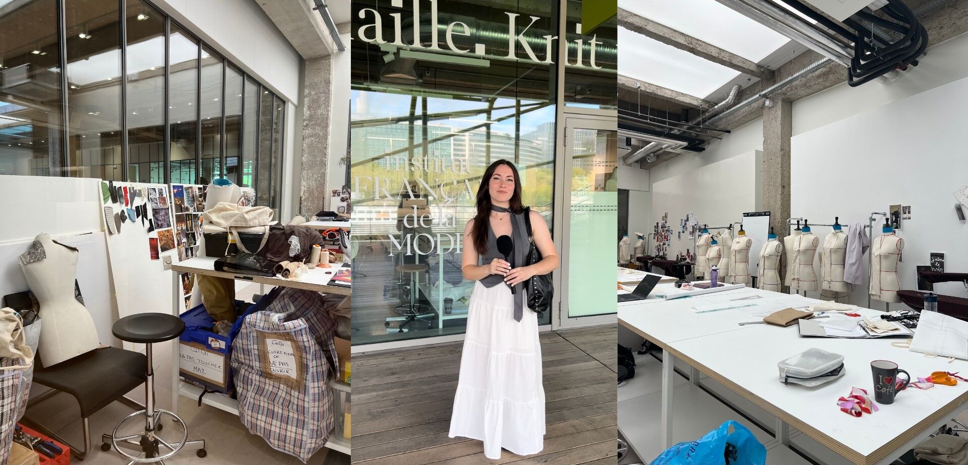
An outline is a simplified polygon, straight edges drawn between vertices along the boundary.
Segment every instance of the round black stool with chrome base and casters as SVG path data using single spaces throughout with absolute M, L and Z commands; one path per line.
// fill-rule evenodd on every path
M 137 411 L 125 417 L 114 426 L 114 431 L 111 434 L 106 434 L 102 438 L 101 450 L 107 451 L 113 446 L 118 453 L 131 460 L 128 465 L 136 463 L 161 463 L 164 465 L 165 459 L 179 450 L 197 450 L 196 454 L 199 457 L 204 457 L 206 454 L 205 441 L 188 441 L 188 426 L 182 419 L 172 412 L 155 408 L 155 373 L 151 364 L 151 344 L 174 339 L 184 331 L 185 322 L 181 318 L 166 313 L 151 312 L 126 316 L 115 322 L 111 328 L 111 333 L 121 340 L 144 344 L 145 355 L 148 359 L 144 380 L 145 410 Z M 164 415 L 181 425 L 182 438 L 180 441 L 169 444 L 156 433 L 162 429 L 161 418 Z M 140 416 L 144 417 L 143 433 L 118 436 L 118 430 L 126 421 Z M 125 450 L 134 450 L 135 453 L 132 454 Z

